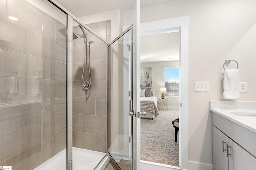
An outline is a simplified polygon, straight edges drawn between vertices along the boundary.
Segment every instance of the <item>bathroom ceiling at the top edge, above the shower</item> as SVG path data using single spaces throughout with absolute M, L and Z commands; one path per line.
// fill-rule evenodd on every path
M 119 9 L 120 11 L 135 8 L 136 0 L 55 0 L 74 16 L 82 17 L 100 12 Z M 174 0 L 141 0 L 140 6 L 151 6 Z

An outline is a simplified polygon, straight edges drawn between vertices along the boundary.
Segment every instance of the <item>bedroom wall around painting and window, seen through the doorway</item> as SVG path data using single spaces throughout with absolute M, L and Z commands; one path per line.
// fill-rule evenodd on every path
M 141 68 L 152 68 L 152 88 L 157 98 L 161 98 L 160 88 L 164 87 L 163 67 L 179 66 L 179 61 L 140 63 Z M 168 99 L 169 109 L 179 109 L 179 96 L 165 96 Z

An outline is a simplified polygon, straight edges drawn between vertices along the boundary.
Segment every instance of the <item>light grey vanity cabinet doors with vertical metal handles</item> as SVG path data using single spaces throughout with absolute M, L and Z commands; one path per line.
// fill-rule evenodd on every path
M 214 125 L 212 135 L 214 170 L 256 170 L 256 158 Z

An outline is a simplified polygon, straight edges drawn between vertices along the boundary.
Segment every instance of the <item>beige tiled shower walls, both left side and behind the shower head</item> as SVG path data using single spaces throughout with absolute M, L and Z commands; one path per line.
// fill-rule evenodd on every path
M 0 4 L 0 165 L 30 170 L 66 147 L 66 38 L 58 31 L 65 25 L 27 2 L 26 7 L 16 0 Z M 6 7 L 8 15 L 19 16 L 17 22 L 7 19 Z M 89 26 L 111 39 L 110 21 Z M 92 88 L 87 93 L 79 87 L 84 42 L 74 41 L 73 144 L 106 152 L 107 46 L 90 33 L 88 39 Z M 41 70 L 39 95 L 32 93 L 35 70 Z M 18 93 L 7 102 L 14 71 Z

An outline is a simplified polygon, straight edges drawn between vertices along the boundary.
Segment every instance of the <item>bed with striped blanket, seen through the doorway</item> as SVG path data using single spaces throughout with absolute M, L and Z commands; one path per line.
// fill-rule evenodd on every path
M 146 111 L 146 115 L 140 115 L 141 118 L 152 118 L 159 115 L 157 108 L 157 97 L 140 97 L 140 111 Z

